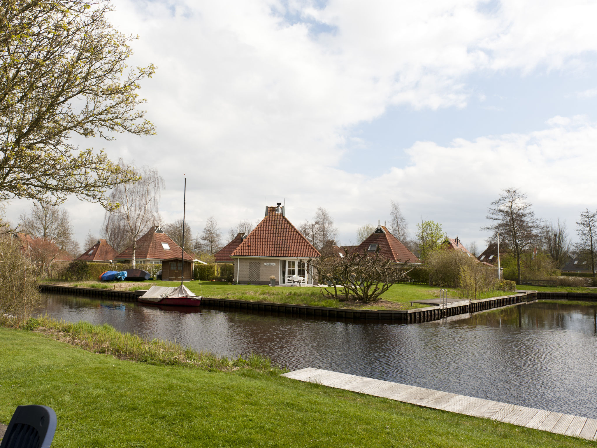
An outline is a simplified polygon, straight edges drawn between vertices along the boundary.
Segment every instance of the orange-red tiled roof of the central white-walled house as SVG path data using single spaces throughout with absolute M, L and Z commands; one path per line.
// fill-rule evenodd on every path
M 319 257 L 319 251 L 282 213 L 276 213 L 276 207 L 267 207 L 266 217 L 230 256 L 307 259 Z

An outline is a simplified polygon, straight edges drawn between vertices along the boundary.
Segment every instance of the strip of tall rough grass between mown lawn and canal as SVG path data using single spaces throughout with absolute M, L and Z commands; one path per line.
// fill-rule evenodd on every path
M 250 354 L 243 358 L 219 357 L 207 351 L 195 351 L 177 342 L 147 339 L 133 333 L 121 333 L 114 327 L 88 322 L 73 324 L 49 315 L 29 318 L 21 329 L 42 332 L 87 351 L 113 355 L 122 360 L 162 366 L 198 367 L 205 370 L 254 369 L 279 375 L 284 370 L 272 364 L 269 358 Z

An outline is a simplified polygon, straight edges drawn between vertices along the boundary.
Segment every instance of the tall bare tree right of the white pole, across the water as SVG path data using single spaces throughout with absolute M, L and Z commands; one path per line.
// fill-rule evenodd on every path
M 487 219 L 494 224 L 481 229 L 493 232 L 490 241 L 496 241 L 499 233 L 502 240 L 507 243 L 516 257 L 518 283 L 520 283 L 521 254 L 537 244 L 541 221 L 535 216 L 531 208 L 533 204 L 527 201 L 527 195 L 516 188 L 504 189 L 500 197 L 491 202 L 491 205 L 493 207 L 488 208 Z

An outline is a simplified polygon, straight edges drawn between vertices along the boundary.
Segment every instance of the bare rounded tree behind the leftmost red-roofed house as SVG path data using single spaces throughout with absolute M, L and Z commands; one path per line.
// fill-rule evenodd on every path
M 77 257 L 79 243 L 74 234 L 68 210 L 52 205 L 33 203 L 29 214 L 21 213 L 21 231 L 33 238 L 51 241 L 72 257 Z

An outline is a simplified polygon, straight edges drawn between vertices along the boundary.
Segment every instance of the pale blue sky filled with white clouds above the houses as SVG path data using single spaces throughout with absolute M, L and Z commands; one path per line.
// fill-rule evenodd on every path
M 110 20 L 139 35 L 153 137 L 82 140 L 158 168 L 164 222 L 223 233 L 285 201 L 327 208 L 344 244 L 398 201 L 484 246 L 500 189 L 566 220 L 597 208 L 597 4 L 590 1 L 140 1 Z M 99 205 L 68 201 L 76 238 Z M 30 207 L 13 201 L 14 221 Z

